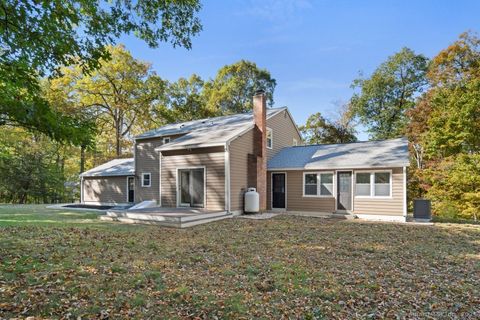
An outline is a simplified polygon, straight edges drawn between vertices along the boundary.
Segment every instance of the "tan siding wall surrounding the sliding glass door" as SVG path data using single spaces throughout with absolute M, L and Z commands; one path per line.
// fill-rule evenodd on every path
M 205 167 L 208 210 L 225 210 L 224 148 L 170 151 L 162 153 L 162 207 L 177 206 L 177 168 Z

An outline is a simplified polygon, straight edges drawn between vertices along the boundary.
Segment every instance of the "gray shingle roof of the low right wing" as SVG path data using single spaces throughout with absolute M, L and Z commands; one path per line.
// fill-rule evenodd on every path
M 408 165 L 408 141 L 399 138 L 288 147 L 270 159 L 268 169 L 359 169 Z

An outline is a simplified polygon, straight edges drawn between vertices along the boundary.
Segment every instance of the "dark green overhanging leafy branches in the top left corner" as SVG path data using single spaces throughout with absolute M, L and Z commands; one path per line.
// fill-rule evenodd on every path
M 84 72 L 106 60 L 105 45 L 134 34 L 191 47 L 201 30 L 197 0 L 26 1 L 0 6 L 0 125 L 19 125 L 57 140 L 84 144 L 89 125 L 50 108 L 39 77 L 80 62 Z M 87 139 L 88 140 L 88 139 Z

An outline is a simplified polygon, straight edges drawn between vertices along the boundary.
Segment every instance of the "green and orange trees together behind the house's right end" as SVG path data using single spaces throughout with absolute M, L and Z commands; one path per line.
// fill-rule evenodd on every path
M 349 113 L 374 139 L 410 141 L 409 199 L 448 218 L 480 214 L 480 39 L 462 34 L 433 59 L 403 49 L 354 81 Z

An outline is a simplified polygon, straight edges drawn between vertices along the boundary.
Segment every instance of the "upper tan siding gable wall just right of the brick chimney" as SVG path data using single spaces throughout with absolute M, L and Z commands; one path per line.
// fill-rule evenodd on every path
M 290 118 L 287 111 L 282 111 L 279 114 L 267 119 L 267 127 L 272 129 L 272 149 L 267 148 L 267 159 L 270 160 L 280 150 L 285 147 L 293 145 L 293 139 L 302 144 L 302 138 L 295 128 L 295 122 Z

